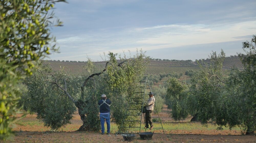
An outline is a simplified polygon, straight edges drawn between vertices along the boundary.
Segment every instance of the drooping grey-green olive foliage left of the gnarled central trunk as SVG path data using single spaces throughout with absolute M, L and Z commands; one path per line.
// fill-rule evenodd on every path
M 22 96 L 24 109 L 36 113 L 37 119 L 41 119 L 45 126 L 57 130 L 70 123 L 76 108 L 62 90 L 47 81 L 49 73 L 53 72 L 50 66 L 43 65 L 40 68 L 43 70 L 37 70 L 24 81 L 27 87 Z M 65 86 L 68 92 L 72 95 L 78 94 L 80 88 L 78 84 L 81 78 L 68 74 L 64 68 L 61 68 L 54 76 L 63 79 L 59 81 L 60 84 L 65 84 L 64 79 L 67 80 Z

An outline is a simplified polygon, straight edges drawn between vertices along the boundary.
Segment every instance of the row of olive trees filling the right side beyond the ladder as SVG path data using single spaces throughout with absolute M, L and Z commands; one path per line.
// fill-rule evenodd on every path
M 204 66 L 198 62 L 201 70 L 195 73 L 190 84 L 171 78 L 168 81 L 166 100 L 172 109 L 175 120 L 189 115 L 203 124 L 214 121 L 222 129 L 228 126 L 240 126 L 246 134 L 256 131 L 256 36 L 251 42 L 243 42 L 246 54 L 238 54 L 244 70 L 234 68 L 223 76 L 222 65 L 225 59 L 221 54 L 211 54 L 211 64 Z

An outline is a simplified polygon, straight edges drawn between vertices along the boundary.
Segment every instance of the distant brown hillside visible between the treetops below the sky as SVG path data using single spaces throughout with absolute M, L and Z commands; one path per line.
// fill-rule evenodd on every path
M 208 59 L 204 60 L 205 62 L 210 62 Z M 43 64 L 50 64 L 53 70 L 59 70 L 60 66 L 65 67 L 67 70 L 72 72 L 75 75 L 82 75 L 85 73 L 84 65 L 86 62 L 65 62 L 65 61 L 47 61 L 42 60 Z M 97 64 L 101 65 L 102 67 L 105 66 L 105 62 L 96 62 Z M 228 57 L 223 62 L 223 69 L 230 69 L 233 66 L 237 68 L 243 68 L 242 63 L 239 57 Z M 177 72 L 177 73 L 185 73 L 186 70 L 193 69 L 198 70 L 199 67 L 196 62 L 191 61 L 156 61 L 150 60 L 150 65 L 148 66 L 148 70 L 146 74 L 159 74 L 159 73 L 170 73 L 170 72 Z

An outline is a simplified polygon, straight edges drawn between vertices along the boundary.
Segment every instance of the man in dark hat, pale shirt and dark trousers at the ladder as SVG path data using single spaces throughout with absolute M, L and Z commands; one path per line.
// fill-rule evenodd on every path
M 145 115 L 145 122 L 146 122 L 146 126 L 144 127 L 149 128 L 148 123 L 150 124 L 150 130 L 153 129 L 153 123 L 152 123 L 152 112 L 154 111 L 154 106 L 155 106 L 155 97 L 153 96 L 153 92 L 149 93 L 149 98 L 147 99 L 147 101 L 145 102 L 145 106 L 146 106 L 146 115 Z

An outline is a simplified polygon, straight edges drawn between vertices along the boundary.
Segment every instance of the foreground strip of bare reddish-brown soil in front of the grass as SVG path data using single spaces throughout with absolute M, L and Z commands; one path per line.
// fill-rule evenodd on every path
M 124 142 L 121 135 L 100 135 L 90 132 L 19 132 L 6 142 Z M 243 135 L 180 135 L 154 134 L 152 140 L 141 140 L 136 135 L 133 142 L 256 142 L 256 136 Z

